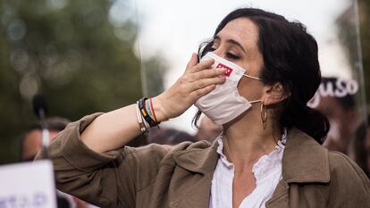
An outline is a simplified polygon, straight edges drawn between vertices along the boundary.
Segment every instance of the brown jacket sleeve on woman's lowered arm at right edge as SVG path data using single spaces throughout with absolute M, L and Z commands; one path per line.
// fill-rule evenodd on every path
M 370 208 L 370 180 L 347 155 L 331 153 L 331 197 L 328 207 Z

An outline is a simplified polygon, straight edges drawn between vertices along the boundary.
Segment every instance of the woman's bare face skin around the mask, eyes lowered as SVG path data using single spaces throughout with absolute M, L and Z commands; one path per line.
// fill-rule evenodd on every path
M 214 54 L 238 64 L 245 74 L 258 78 L 263 66 L 263 57 L 257 47 L 258 29 L 247 18 L 238 18 L 214 37 Z M 256 79 L 242 77 L 238 85 L 240 96 L 249 101 L 261 99 L 263 83 Z

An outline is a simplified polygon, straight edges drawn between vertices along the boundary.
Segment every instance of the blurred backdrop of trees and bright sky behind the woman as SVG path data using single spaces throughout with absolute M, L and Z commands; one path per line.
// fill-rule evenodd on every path
M 46 97 L 48 116 L 70 121 L 156 96 L 241 6 L 307 25 L 325 77 L 310 105 L 332 123 L 325 146 L 355 159 L 369 155 L 370 0 L 0 0 L 0 164 L 19 160 L 21 137 L 37 121 L 33 96 Z M 195 137 L 196 112 L 162 124 L 165 137 Z M 146 141 L 157 137 L 154 130 Z

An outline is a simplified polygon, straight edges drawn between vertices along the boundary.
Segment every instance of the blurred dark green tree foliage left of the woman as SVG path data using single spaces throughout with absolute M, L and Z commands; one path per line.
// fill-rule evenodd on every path
M 37 93 L 46 96 L 50 115 L 71 121 L 142 96 L 137 26 L 130 16 L 112 21 L 113 4 L 0 0 L 0 164 L 15 162 L 17 138 L 36 121 L 31 98 Z

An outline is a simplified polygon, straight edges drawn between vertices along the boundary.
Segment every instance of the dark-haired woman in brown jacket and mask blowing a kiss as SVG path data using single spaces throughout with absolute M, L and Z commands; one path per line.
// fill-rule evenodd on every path
M 49 146 L 57 187 L 102 207 L 370 207 L 363 171 L 320 146 L 329 123 L 307 107 L 321 75 L 303 25 L 239 9 L 199 56 L 163 94 L 64 129 Z M 223 124 L 213 145 L 124 146 L 192 104 Z

